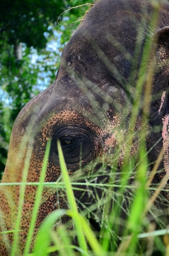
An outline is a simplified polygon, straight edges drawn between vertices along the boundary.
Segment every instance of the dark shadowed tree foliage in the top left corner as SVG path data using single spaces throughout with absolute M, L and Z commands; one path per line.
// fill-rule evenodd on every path
M 65 10 L 65 2 L 58 0 L 43 1 L 1 1 L 0 34 L 5 33 L 7 43 L 24 42 L 28 47 L 45 48 L 43 33 L 51 22 Z

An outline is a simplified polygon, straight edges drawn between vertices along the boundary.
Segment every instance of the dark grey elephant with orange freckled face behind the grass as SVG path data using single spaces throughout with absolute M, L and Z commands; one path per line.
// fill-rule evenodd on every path
M 168 85 L 169 3 L 97 1 L 64 47 L 54 83 L 30 100 L 17 116 L 2 183 L 22 182 L 24 170 L 27 182 L 38 182 L 49 140 L 45 182 L 59 180 L 60 140 L 69 175 L 80 182 L 91 175 L 93 183 L 107 184 L 112 166 L 118 180 L 124 167 L 137 164 L 140 148 L 147 151 L 151 173 L 163 150 L 152 179 L 152 186 L 159 184 L 169 173 Z M 103 166 L 104 170 L 100 169 Z M 133 184 L 133 174 L 126 179 L 127 184 Z M 83 183 L 77 188 L 83 190 L 86 186 Z M 80 189 L 74 190 L 80 210 L 95 204 L 96 193 L 102 198 L 101 189 L 93 189 L 92 198 Z M 24 251 L 36 191 L 35 185 L 25 187 L 17 255 Z M 0 186 L 1 231 L 14 229 L 19 194 L 20 186 L 16 184 Z M 163 212 L 169 195 L 162 191 L 160 198 L 154 207 Z M 57 193 L 45 186 L 34 236 L 46 216 L 59 207 L 69 207 L 64 191 Z M 121 217 L 126 218 L 125 210 Z M 66 223 L 69 218 L 63 217 L 62 221 Z M 93 224 L 96 230 L 98 226 Z M 2 256 L 11 250 L 12 233 L 6 237 L 0 234 Z

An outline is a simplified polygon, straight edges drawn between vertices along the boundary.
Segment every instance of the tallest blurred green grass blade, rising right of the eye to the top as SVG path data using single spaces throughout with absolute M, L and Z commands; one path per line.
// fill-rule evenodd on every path
M 154 11 L 152 13 L 152 17 L 150 19 L 149 23 L 149 31 L 154 31 L 156 24 L 158 22 L 158 16 L 159 16 L 159 10 L 160 10 L 160 4 L 157 4 L 154 6 Z M 149 113 L 149 105 L 151 102 L 151 88 L 152 88 L 152 74 L 153 74 L 153 59 L 151 57 L 151 53 L 153 50 L 155 50 L 155 44 L 154 44 L 155 37 L 152 36 L 151 33 L 147 35 L 145 45 L 143 48 L 143 55 L 142 55 L 142 61 L 140 65 L 140 70 L 138 74 L 138 79 L 137 79 L 137 86 L 135 89 L 135 97 L 134 97 L 134 102 L 133 102 L 133 109 L 132 109 L 132 114 L 130 117 L 130 129 L 129 132 L 132 134 L 132 132 L 135 130 L 135 125 L 137 122 L 137 115 L 139 113 L 140 109 L 140 99 L 141 99 L 141 93 L 143 92 L 143 86 L 146 84 L 146 89 L 145 89 L 145 96 L 144 96 L 144 111 L 143 111 L 143 123 L 141 125 L 141 129 L 139 132 L 139 137 L 140 137 L 140 154 L 141 151 L 144 151 L 145 148 L 145 139 L 146 139 L 146 123 L 148 122 L 147 116 Z M 151 66 L 151 68 L 150 68 Z M 149 68 L 148 68 L 149 67 Z M 147 71 L 148 70 L 148 71 Z M 132 140 L 133 137 L 131 137 L 131 142 L 129 143 L 129 149 L 132 146 Z M 129 152 L 129 151 L 128 151 Z M 145 155 L 142 154 L 143 156 Z M 126 169 L 127 173 L 127 166 L 128 166 L 128 161 L 129 161 L 130 154 L 127 153 L 126 150 L 126 157 L 123 160 L 123 169 Z M 140 157 L 141 159 L 142 157 Z M 145 157 L 144 157 L 145 158 Z M 146 158 L 145 158 L 146 160 Z M 146 162 L 146 161 L 145 161 Z M 147 163 L 146 163 L 147 165 Z M 135 200 L 132 204 L 131 211 L 130 211 L 130 216 L 129 216 L 129 221 L 128 221 L 128 227 L 126 228 L 125 232 L 127 232 L 128 228 L 130 231 L 133 232 L 132 234 L 132 239 L 130 240 L 130 246 L 128 241 L 126 241 L 126 247 L 125 250 L 128 250 L 129 254 L 135 252 L 136 247 L 137 247 L 137 233 L 140 230 L 140 227 L 142 226 L 142 211 L 146 207 L 146 197 L 145 197 L 145 178 L 146 178 L 146 165 L 143 163 L 143 159 L 141 160 L 140 167 L 138 168 L 137 175 L 139 176 L 137 179 L 138 182 L 138 187 L 137 191 L 135 193 Z M 123 243 L 123 242 L 122 242 Z M 108 248 L 108 243 L 107 243 L 107 248 Z

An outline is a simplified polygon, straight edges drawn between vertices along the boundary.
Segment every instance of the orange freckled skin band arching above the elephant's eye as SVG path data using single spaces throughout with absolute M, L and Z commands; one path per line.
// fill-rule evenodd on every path
M 111 116 L 110 119 L 109 113 L 105 111 L 105 113 L 102 113 L 102 116 L 100 113 L 100 119 L 98 119 L 91 112 L 84 109 L 77 111 L 75 109 L 63 108 L 63 110 L 57 113 L 54 111 L 46 122 L 43 123 L 41 129 L 43 139 L 51 137 L 60 126 L 66 125 L 69 127 L 85 128 L 88 131 L 93 131 L 97 136 L 103 136 L 104 134 L 112 133 L 113 128 L 120 126 L 120 116 Z

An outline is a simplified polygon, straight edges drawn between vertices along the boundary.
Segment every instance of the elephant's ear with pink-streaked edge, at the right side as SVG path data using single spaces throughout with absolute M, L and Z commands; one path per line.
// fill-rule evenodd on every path
M 169 26 L 160 29 L 156 35 L 157 48 L 149 119 L 153 132 L 149 134 L 147 141 L 148 149 L 153 147 L 150 152 L 152 162 L 157 160 L 163 147 L 163 164 L 161 162 L 159 168 L 164 168 L 165 175 L 169 172 Z M 162 177 L 160 175 L 162 174 L 159 174 L 159 177 Z

